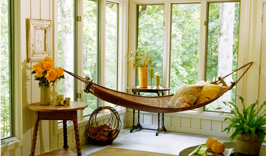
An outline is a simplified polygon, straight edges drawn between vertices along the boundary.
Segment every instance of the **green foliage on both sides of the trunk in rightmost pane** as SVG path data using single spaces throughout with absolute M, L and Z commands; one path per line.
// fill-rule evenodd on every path
M 208 34 L 207 34 L 207 62 L 206 62 L 206 81 L 213 82 L 218 78 L 218 27 L 219 27 L 220 3 L 209 3 L 208 15 Z M 237 69 L 238 59 L 238 33 L 239 33 L 239 2 L 235 3 L 235 24 L 233 31 L 233 71 Z M 229 73 L 225 73 L 226 75 Z M 232 75 L 236 81 L 237 73 Z M 232 89 L 232 102 L 235 103 L 236 87 Z M 214 111 L 215 101 L 205 106 L 205 110 Z

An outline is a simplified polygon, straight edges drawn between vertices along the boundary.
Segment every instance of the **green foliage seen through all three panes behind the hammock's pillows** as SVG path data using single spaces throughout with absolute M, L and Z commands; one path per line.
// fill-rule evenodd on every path
M 206 81 L 217 80 L 218 42 L 220 3 L 209 3 Z M 163 5 L 138 6 L 138 45 L 151 51 L 155 73 L 162 73 L 163 53 Z M 144 12 L 144 13 L 143 13 Z M 198 81 L 199 33 L 201 5 L 173 4 L 171 12 L 171 67 L 170 94 L 174 94 L 181 83 L 195 84 Z M 235 4 L 235 24 L 233 34 L 233 71 L 237 69 L 238 58 L 239 2 Z M 229 74 L 229 73 L 228 73 Z M 233 75 L 236 80 L 236 74 Z M 150 80 L 148 80 L 150 82 Z M 138 78 L 137 78 L 138 85 Z M 236 87 L 232 90 L 235 101 Z M 141 93 L 156 96 L 152 93 Z M 205 110 L 214 111 L 216 104 L 207 105 Z

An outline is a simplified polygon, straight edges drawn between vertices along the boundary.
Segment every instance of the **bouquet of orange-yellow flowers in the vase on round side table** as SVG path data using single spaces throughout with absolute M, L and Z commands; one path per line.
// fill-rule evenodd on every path
M 54 60 L 46 56 L 43 61 L 38 61 L 32 66 L 31 74 L 36 74 L 34 80 L 39 81 L 39 88 L 44 85 L 49 85 L 57 80 L 64 79 L 64 70 L 62 67 L 54 68 Z

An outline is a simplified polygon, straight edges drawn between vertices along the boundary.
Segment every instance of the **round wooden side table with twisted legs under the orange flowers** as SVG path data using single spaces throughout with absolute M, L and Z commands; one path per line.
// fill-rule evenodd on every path
M 33 128 L 33 137 L 32 137 L 32 145 L 30 156 L 35 155 L 35 145 L 37 139 L 37 131 L 39 120 L 63 120 L 63 133 L 64 133 L 64 146 L 66 148 L 63 152 L 67 154 L 67 152 L 72 152 L 68 148 L 67 144 L 67 120 L 73 120 L 74 131 L 75 131 L 75 139 L 76 139 L 76 148 L 77 155 L 81 156 L 80 152 L 80 143 L 79 143 L 79 129 L 78 129 L 78 118 L 77 118 L 77 110 L 83 110 L 88 107 L 88 104 L 85 102 L 77 102 L 71 101 L 69 105 L 54 105 L 54 102 L 51 101 L 50 105 L 41 105 L 40 102 L 29 104 L 28 109 L 34 110 L 34 128 Z M 62 152 L 62 150 L 59 150 Z M 73 153 L 73 152 L 72 152 Z

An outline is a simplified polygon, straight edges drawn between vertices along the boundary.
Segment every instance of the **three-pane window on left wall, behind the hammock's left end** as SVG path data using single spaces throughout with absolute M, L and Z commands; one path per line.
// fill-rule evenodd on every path
M 119 89 L 118 75 L 120 73 L 121 77 L 122 71 L 118 71 L 118 56 L 122 56 L 122 51 L 118 47 L 122 47 L 122 42 L 118 36 L 122 29 L 119 29 L 118 21 L 119 11 L 123 11 L 119 4 L 95 0 L 58 1 L 59 66 L 81 77 L 87 76 L 94 83 Z M 100 5 L 105 9 L 100 10 Z M 99 17 L 106 19 L 105 23 Z M 81 113 L 83 116 L 90 115 L 102 105 L 116 106 L 101 103 L 94 95 L 84 93 L 85 84 L 69 74 L 65 74 L 65 79 L 58 85 L 58 94 L 88 103 L 88 107 Z

